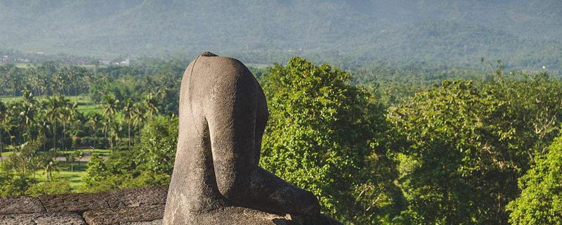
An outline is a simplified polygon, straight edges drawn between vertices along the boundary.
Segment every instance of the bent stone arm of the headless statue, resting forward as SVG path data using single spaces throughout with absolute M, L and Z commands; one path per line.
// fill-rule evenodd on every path
M 258 95 L 251 75 L 214 83 L 205 106 L 218 190 L 247 207 L 281 213 L 318 214 L 315 196 L 258 167 L 254 160 Z

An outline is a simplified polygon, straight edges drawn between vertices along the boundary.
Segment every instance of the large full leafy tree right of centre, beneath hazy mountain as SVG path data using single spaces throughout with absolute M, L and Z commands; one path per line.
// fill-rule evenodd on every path
M 502 123 L 504 104 L 472 82 L 445 81 L 390 110 L 405 144 L 397 155 L 404 223 L 507 223 L 504 206 L 527 158 Z

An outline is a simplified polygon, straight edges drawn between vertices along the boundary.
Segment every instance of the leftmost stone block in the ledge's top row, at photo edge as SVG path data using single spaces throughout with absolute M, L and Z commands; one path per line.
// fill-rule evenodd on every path
M 0 198 L 0 214 L 45 212 L 43 205 L 33 197 Z

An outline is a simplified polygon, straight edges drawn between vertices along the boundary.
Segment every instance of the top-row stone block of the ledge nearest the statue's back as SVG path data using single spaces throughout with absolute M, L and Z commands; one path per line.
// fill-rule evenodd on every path
M 104 195 L 110 207 L 166 204 L 166 191 L 160 186 L 110 191 Z

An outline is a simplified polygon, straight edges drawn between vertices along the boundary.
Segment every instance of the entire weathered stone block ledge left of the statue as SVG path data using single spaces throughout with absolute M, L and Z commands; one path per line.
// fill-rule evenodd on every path
M 0 198 L 0 224 L 159 225 L 167 186 Z

